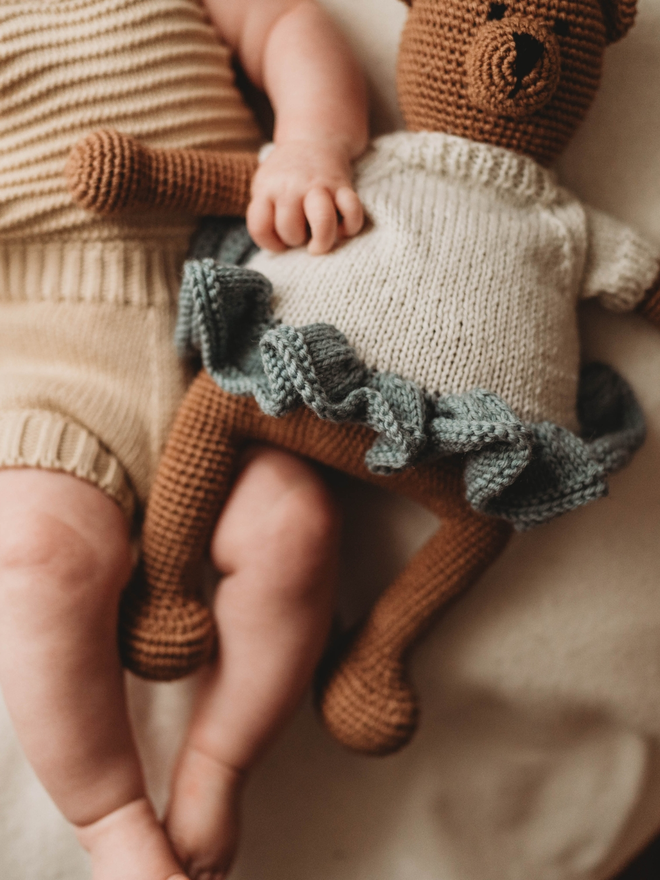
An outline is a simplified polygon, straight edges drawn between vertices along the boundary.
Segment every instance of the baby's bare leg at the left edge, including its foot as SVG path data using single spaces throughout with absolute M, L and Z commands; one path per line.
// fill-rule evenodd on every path
M 145 798 L 117 652 L 128 526 L 62 473 L 0 471 L 0 685 L 94 880 L 183 880 Z

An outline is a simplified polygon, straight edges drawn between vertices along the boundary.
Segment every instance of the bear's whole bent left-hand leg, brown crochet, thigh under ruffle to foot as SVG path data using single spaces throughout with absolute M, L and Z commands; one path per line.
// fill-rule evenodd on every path
M 228 496 L 236 457 L 250 441 L 272 443 L 368 474 L 368 428 L 322 422 L 301 407 L 264 415 L 249 397 L 221 390 L 202 370 L 177 413 L 154 481 L 143 528 L 143 577 L 124 594 L 120 647 L 145 678 L 171 680 L 209 659 L 215 623 L 187 586 Z

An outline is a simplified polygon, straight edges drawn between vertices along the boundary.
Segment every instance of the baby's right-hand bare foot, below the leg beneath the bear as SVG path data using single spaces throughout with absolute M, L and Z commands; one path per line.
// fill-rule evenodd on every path
M 188 747 L 179 762 L 166 828 L 191 880 L 223 880 L 236 852 L 243 773 Z

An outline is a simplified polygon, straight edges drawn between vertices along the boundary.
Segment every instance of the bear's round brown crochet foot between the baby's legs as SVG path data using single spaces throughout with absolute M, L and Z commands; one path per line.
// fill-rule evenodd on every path
M 147 596 L 129 588 L 120 606 L 120 653 L 124 666 L 152 681 L 183 678 L 215 653 L 211 611 L 182 595 Z

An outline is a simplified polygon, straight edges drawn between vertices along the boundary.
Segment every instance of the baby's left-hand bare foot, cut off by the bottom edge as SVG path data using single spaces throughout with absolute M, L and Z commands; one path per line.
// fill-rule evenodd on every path
M 146 798 L 75 830 L 93 880 L 187 880 Z

